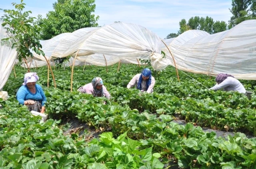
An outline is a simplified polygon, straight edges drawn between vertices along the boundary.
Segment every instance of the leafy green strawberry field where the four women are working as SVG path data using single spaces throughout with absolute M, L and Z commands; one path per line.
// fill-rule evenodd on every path
M 26 106 L 15 98 L 27 70 L 16 66 L 4 91 L 11 96 L 0 101 L 0 168 L 31 169 L 255 169 L 256 168 L 256 95 L 251 100 L 238 92 L 208 90 L 214 78 L 189 74 L 194 81 L 168 67 L 154 72 L 156 79 L 152 94 L 140 94 L 126 85 L 142 71 L 136 65 L 108 67 L 75 67 L 73 92 L 70 92 L 70 68 L 55 68 L 57 88 L 48 68 L 37 72 L 47 97 L 49 119 L 39 123 Z M 101 77 L 112 95 L 111 100 L 81 94 L 76 90 L 94 77 Z M 246 90 L 254 91 L 255 81 L 241 81 Z M 106 104 L 102 104 L 106 101 Z M 90 141 L 73 133 L 63 134 L 62 122 L 78 118 L 92 130 L 108 129 Z M 185 126 L 174 119 L 188 122 Z M 195 127 L 197 126 L 197 127 Z M 201 127 L 236 132 L 226 138 L 205 133 Z M 172 161 L 171 166 L 167 166 Z

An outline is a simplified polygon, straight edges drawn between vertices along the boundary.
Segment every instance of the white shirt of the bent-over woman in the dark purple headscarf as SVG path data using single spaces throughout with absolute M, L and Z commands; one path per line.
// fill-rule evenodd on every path
M 227 77 L 222 83 L 213 86 L 210 88 L 211 90 L 219 90 L 223 88 L 224 91 L 238 91 L 240 93 L 245 93 L 246 90 L 242 83 L 240 83 L 237 79 L 234 77 Z

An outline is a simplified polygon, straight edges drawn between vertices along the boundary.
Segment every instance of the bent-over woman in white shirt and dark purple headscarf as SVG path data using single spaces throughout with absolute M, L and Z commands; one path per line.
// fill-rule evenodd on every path
M 246 93 L 246 90 L 242 83 L 240 83 L 237 79 L 232 75 L 228 75 L 226 73 L 219 73 L 216 77 L 216 85 L 210 88 L 210 90 L 219 90 L 223 88 L 224 91 L 238 91 L 240 93 Z

